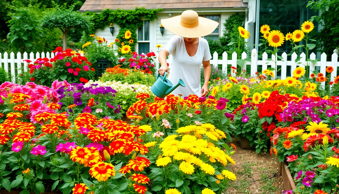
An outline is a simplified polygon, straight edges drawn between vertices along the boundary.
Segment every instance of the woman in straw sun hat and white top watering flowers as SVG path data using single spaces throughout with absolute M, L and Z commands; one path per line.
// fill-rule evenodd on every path
M 158 73 L 168 73 L 168 79 L 177 84 L 179 79 L 185 82 L 186 87 L 179 86 L 172 94 L 188 96 L 195 94 L 204 97 L 208 93 L 208 81 L 211 75 L 210 47 L 207 40 L 201 38 L 211 34 L 219 25 L 218 22 L 198 17 L 197 12 L 184 11 L 180 16 L 162 19 L 161 24 L 169 32 L 176 34 L 159 53 L 161 67 Z M 172 54 L 172 68 L 169 73 L 166 58 Z M 201 63 L 204 69 L 204 85 L 200 88 Z

